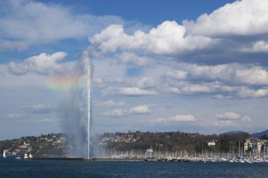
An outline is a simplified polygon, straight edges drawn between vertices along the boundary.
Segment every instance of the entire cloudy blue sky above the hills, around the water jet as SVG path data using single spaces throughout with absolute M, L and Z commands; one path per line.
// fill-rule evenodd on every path
M 0 139 L 63 131 L 70 78 L 59 76 L 71 76 L 84 51 L 99 133 L 267 129 L 267 8 L 265 0 L 1 1 Z

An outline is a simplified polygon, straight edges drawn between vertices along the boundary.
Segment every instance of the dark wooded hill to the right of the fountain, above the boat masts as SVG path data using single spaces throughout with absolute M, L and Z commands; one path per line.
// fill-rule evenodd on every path
M 102 143 L 106 147 L 116 150 L 145 150 L 147 148 L 159 148 L 161 150 L 176 151 L 188 150 L 202 152 L 202 150 L 238 150 L 239 142 L 250 138 L 248 133 L 202 135 L 200 133 L 171 132 L 128 132 L 128 133 L 104 133 Z M 209 142 L 215 142 L 214 147 L 208 146 Z

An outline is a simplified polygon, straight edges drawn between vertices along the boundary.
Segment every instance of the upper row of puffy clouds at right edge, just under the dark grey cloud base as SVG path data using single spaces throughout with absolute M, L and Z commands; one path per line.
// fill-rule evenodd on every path
M 219 64 L 214 66 L 185 64 L 177 65 L 177 71 L 165 73 L 169 78 L 183 80 L 199 79 L 205 81 L 224 81 L 247 85 L 268 85 L 268 71 L 263 66 L 247 64 Z M 187 79 L 187 78 L 186 78 Z

